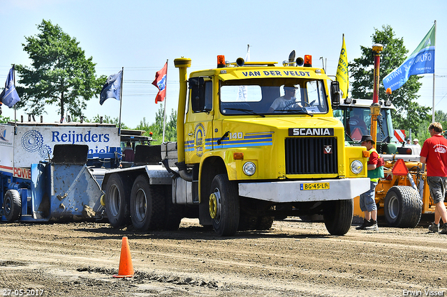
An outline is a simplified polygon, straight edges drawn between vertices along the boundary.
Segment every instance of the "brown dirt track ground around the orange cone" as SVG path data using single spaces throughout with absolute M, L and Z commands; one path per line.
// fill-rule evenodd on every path
M 0 296 L 447 296 L 447 236 L 427 233 L 432 219 L 330 236 L 287 218 L 226 238 L 191 219 L 149 234 L 0 223 Z M 135 275 L 118 279 L 123 236 Z

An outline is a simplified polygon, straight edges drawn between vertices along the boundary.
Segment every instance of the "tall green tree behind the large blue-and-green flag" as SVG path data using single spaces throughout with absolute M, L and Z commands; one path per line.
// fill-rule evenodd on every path
M 383 25 L 382 30 L 374 29 L 372 43 L 383 45 L 383 52 L 380 53 L 380 85 L 379 98 L 386 99 L 386 90 L 383 89 L 382 79 L 398 68 L 406 59 L 406 50 L 403 38 L 395 38 L 395 33 L 391 26 Z M 351 94 L 353 98 L 372 99 L 374 93 L 374 56 L 371 47 L 362 47 L 362 56 L 349 63 L 349 70 L 353 82 L 351 84 Z M 429 116 L 430 107 L 418 105 L 416 100 L 420 86 L 418 80 L 420 76 L 412 75 L 400 89 L 393 91 L 390 100 L 396 107 L 392 113 L 393 126 L 395 128 L 416 131 L 420 123 Z

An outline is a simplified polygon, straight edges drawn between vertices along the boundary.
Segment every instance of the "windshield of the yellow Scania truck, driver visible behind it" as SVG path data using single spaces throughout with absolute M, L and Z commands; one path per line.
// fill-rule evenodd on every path
M 328 112 L 328 100 L 322 80 L 230 80 L 221 82 L 219 94 L 220 110 L 224 115 Z

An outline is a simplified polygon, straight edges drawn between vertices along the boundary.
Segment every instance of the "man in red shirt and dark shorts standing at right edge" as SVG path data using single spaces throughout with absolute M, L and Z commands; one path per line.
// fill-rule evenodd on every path
M 442 218 L 444 225 L 439 233 L 447 234 L 447 211 L 444 205 L 447 187 L 447 139 L 442 135 L 441 123 L 431 123 L 428 130 L 431 137 L 425 140 L 420 151 L 420 162 L 427 164 L 427 183 L 436 205 L 434 222 L 428 230 L 439 232 L 439 220 Z

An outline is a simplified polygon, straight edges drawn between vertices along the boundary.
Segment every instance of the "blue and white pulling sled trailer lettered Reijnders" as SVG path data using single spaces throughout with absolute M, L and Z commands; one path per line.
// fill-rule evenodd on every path
M 1 220 L 103 218 L 103 192 L 87 159 L 111 165 L 120 153 L 115 125 L 0 125 Z

